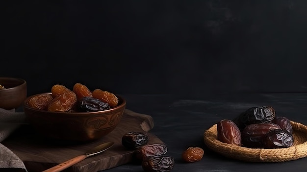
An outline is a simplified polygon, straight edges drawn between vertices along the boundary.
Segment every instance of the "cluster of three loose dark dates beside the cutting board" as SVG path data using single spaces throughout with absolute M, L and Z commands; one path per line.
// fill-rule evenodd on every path
M 167 155 L 167 147 L 162 143 L 149 144 L 146 132 L 130 131 L 122 137 L 122 145 L 133 150 L 134 162 L 141 164 L 145 172 L 170 172 L 175 164 L 174 158 Z

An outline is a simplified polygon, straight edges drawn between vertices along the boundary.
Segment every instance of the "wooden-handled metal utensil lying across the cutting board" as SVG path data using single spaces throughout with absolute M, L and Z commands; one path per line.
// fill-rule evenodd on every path
M 65 170 L 65 169 L 77 164 L 78 162 L 84 160 L 87 157 L 90 157 L 90 156 L 93 156 L 93 155 L 96 155 L 98 153 L 103 152 L 104 150 L 112 147 L 113 145 L 114 145 L 114 142 L 103 143 L 103 144 L 101 144 L 97 147 L 92 148 L 91 150 L 86 152 L 84 155 L 79 155 L 75 158 L 72 158 L 70 160 L 67 160 L 67 161 L 61 163 L 61 164 L 58 164 L 54 167 L 51 167 L 50 169 L 47 169 L 43 172 L 61 172 L 62 170 Z

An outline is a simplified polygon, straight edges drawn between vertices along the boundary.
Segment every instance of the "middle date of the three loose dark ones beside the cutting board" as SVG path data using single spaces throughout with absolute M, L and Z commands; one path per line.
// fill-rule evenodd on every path
M 164 155 L 167 152 L 167 147 L 164 144 L 149 144 L 139 147 L 135 150 L 134 154 L 136 159 L 144 160 L 149 156 Z

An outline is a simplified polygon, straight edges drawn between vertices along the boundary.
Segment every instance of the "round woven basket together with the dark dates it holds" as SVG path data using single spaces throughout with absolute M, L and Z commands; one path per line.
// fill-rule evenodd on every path
M 247 162 L 285 162 L 307 157 L 307 126 L 252 107 L 205 130 L 205 145 L 225 157 Z

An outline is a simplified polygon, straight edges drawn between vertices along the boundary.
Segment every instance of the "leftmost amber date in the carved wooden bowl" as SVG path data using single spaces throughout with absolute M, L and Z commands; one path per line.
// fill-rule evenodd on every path
M 28 105 L 34 109 L 47 110 L 51 100 L 51 94 L 37 95 L 29 99 Z

